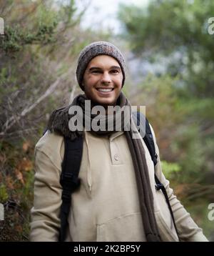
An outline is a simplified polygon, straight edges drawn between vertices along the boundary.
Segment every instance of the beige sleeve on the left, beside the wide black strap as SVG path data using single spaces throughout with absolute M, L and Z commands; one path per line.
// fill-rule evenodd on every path
M 31 241 L 58 241 L 60 227 L 60 172 L 53 156 L 35 149 L 34 207 L 31 209 Z

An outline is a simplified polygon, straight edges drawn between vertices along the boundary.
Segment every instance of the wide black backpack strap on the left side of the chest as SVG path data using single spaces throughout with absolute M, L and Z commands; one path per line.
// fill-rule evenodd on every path
M 59 241 L 66 239 L 66 230 L 68 227 L 68 213 L 71 208 L 71 193 L 78 189 L 80 179 L 78 178 L 83 153 L 83 137 L 78 137 L 71 141 L 64 137 L 65 153 L 61 164 L 60 184 L 62 187 L 61 195 L 61 230 Z

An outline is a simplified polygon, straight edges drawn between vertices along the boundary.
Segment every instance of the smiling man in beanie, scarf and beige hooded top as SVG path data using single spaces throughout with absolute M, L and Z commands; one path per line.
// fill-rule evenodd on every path
M 86 121 L 92 124 L 96 117 L 88 111 L 93 107 L 106 109 L 105 120 L 112 117 L 110 106 L 131 109 L 121 91 L 126 78 L 121 51 L 105 41 L 89 44 L 79 55 L 76 76 L 85 94 L 51 114 L 49 130 L 36 144 L 31 241 L 58 241 L 63 137 L 83 137 L 81 184 L 71 195 L 66 241 L 178 241 L 178 236 L 181 241 L 207 241 L 163 175 L 154 133 L 155 168 L 143 139 L 133 139 L 133 129 L 125 129 L 131 118 L 120 117 L 121 130 L 116 126 L 93 129 L 92 125 L 91 131 L 86 129 Z M 91 109 L 86 109 L 87 100 Z M 69 125 L 73 106 L 83 112 L 83 131 L 73 131 L 74 124 Z M 178 235 L 165 197 L 156 189 L 155 172 L 168 194 Z

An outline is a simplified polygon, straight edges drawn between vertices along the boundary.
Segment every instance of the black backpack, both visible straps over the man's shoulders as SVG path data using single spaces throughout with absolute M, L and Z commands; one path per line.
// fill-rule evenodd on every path
M 158 162 L 158 155 L 156 154 L 155 144 L 153 142 L 153 134 L 151 132 L 151 127 L 149 125 L 148 119 L 141 113 L 141 112 L 133 112 L 132 113 L 133 121 L 137 126 L 140 126 L 138 132 L 140 132 L 141 136 L 145 134 L 143 137 L 143 141 L 148 148 L 149 153 L 151 154 L 151 159 L 153 160 L 154 167 Z M 146 131 L 145 127 L 143 127 L 143 121 L 146 121 Z M 144 129 L 143 129 L 144 128 Z M 144 130 L 144 133 L 141 132 Z M 79 169 L 81 166 L 81 157 L 83 152 L 83 137 L 78 137 L 71 141 L 64 137 L 65 142 L 65 153 L 63 162 L 61 165 L 61 177 L 60 177 L 60 184 L 62 187 L 62 195 L 61 195 L 61 211 L 60 211 L 60 219 L 61 219 L 61 228 L 59 232 L 59 241 L 63 242 L 66 239 L 66 230 L 68 227 L 68 213 L 71 207 L 71 193 L 76 191 L 80 186 L 80 179 L 78 178 Z M 71 168 L 72 167 L 72 168 Z M 155 181 L 156 181 L 156 189 L 163 192 L 165 197 L 165 201 L 167 202 L 168 208 L 170 210 L 170 215 L 173 220 L 173 224 L 175 227 L 175 231 L 178 235 L 178 230 L 175 225 L 175 218 L 173 215 L 173 210 L 170 206 L 170 202 L 168 200 L 167 192 L 165 191 L 165 187 L 160 182 L 158 177 L 155 174 Z M 179 238 L 179 237 L 178 237 Z

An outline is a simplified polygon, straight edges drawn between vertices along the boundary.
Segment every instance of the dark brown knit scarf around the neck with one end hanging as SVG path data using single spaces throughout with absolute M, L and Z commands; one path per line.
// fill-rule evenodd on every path
M 96 117 L 98 117 L 98 115 L 91 114 L 91 109 L 89 109 L 90 111 L 88 111 L 88 109 L 85 109 L 86 99 L 86 95 L 78 95 L 75 99 L 73 99 L 73 102 L 69 106 L 56 109 L 51 114 L 47 128 L 51 132 L 56 132 L 58 134 L 70 138 L 71 140 L 75 139 L 76 137 L 82 137 L 83 131 L 76 130 L 75 132 L 71 132 L 71 130 L 68 128 L 68 122 L 71 119 L 71 117 L 73 117 L 71 114 L 68 114 L 68 111 L 72 106 L 81 107 L 83 111 L 83 115 L 81 114 L 81 118 L 83 117 L 83 127 L 86 127 L 87 122 L 91 124 L 96 119 Z M 151 190 L 151 184 L 148 175 L 145 150 L 143 148 L 143 144 L 140 138 L 133 139 L 131 118 L 128 118 L 128 114 L 129 117 L 131 117 L 131 104 L 128 102 L 128 99 L 126 99 L 125 95 L 121 92 L 116 102 L 116 105 L 121 107 L 122 113 L 123 109 L 125 107 L 127 109 L 128 107 L 129 113 L 125 111 L 122 115 L 118 112 L 113 112 L 113 114 L 105 115 L 100 114 L 100 122 L 103 122 L 104 124 L 106 123 L 106 127 L 108 127 L 107 122 L 110 122 L 110 124 L 113 124 L 113 129 L 111 131 L 107 129 L 104 131 L 101 129 L 97 129 L 96 131 L 92 130 L 91 132 L 96 133 L 99 136 L 109 135 L 112 132 L 116 132 L 118 130 L 118 124 L 116 120 L 118 119 L 118 117 L 120 117 L 121 129 L 123 129 L 126 135 L 128 147 L 131 152 L 131 157 L 133 159 L 133 166 L 135 169 L 136 183 L 140 200 L 141 217 L 143 220 L 143 228 L 146 234 L 146 240 L 148 242 L 160 242 L 161 237 L 158 232 L 156 218 L 154 215 L 153 193 Z M 92 103 L 91 108 L 92 107 L 96 107 L 96 104 Z M 78 116 L 78 113 L 76 115 Z M 127 127 L 129 127 L 128 130 L 126 129 Z

